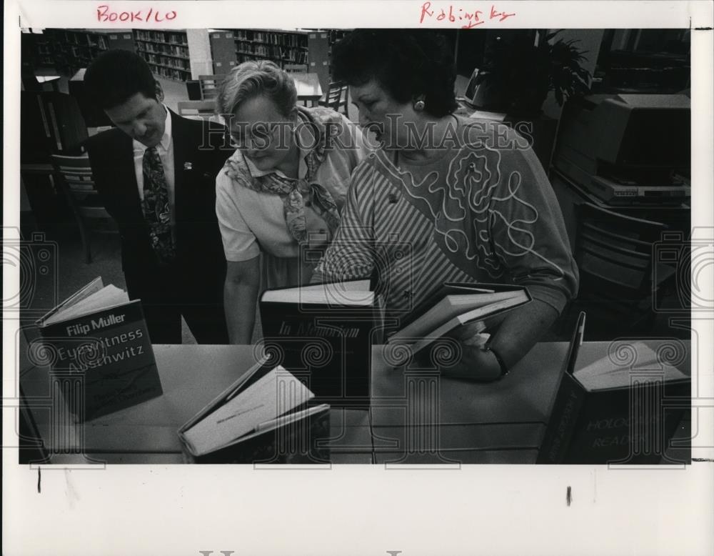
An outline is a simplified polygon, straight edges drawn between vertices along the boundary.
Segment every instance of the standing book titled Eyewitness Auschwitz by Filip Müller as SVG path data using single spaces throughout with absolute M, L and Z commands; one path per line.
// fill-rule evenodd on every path
M 139 299 L 95 278 L 37 322 L 55 379 L 77 420 L 163 392 Z

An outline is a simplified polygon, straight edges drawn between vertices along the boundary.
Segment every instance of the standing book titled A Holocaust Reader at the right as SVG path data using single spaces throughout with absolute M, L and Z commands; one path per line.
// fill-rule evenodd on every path
M 664 456 L 690 406 L 690 377 L 643 342 L 628 350 L 636 367 L 605 357 L 575 370 L 571 344 L 536 463 L 689 463 Z

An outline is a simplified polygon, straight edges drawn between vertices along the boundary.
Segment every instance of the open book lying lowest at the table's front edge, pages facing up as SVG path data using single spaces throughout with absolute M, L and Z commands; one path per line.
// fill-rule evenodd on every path
M 178 430 L 192 463 L 329 462 L 328 404 L 264 357 Z

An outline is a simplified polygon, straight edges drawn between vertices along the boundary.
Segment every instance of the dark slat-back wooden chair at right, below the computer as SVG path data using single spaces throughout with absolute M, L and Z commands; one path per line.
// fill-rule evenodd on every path
M 650 332 L 655 289 L 674 274 L 674 269 L 659 267 L 653 273 L 653 244 L 667 226 L 590 203 L 580 204 L 577 210 L 575 261 L 580 292 L 571 311 L 585 310 L 588 323 L 601 321 L 607 334 Z M 653 276 L 658 283 L 653 283 Z

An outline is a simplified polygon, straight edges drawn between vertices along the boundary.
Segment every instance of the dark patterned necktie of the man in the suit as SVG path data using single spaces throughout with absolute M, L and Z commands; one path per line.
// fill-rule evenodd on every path
M 166 185 L 164 165 L 156 147 L 144 151 L 144 217 L 149 225 L 151 247 L 160 264 L 176 257 L 176 245 L 171 233 L 169 187 Z

